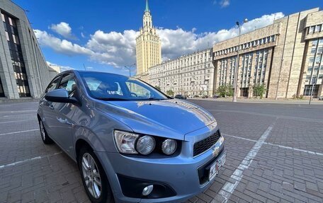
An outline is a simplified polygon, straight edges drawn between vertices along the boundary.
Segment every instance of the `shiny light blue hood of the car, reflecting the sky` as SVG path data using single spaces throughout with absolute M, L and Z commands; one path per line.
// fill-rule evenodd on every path
M 96 108 L 127 124 L 134 132 L 176 139 L 215 122 L 203 108 L 177 99 L 102 101 Z

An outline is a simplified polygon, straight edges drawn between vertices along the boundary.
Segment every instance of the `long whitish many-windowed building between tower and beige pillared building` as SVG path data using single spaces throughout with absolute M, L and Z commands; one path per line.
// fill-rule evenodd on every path
M 208 49 L 152 66 L 148 69 L 148 80 L 164 93 L 212 95 L 214 70 L 212 49 Z

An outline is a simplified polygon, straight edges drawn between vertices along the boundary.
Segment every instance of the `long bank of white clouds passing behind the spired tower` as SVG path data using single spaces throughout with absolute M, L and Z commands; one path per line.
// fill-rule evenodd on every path
M 242 25 L 242 33 L 262 28 L 273 23 L 274 19 L 282 18 L 283 13 L 273 13 L 255 18 Z M 163 59 L 174 59 L 183 54 L 212 47 L 216 42 L 227 40 L 238 35 L 238 28 L 217 32 L 196 33 L 196 28 L 183 30 L 182 28 L 158 28 L 157 33 L 162 40 Z M 125 30 L 123 33 L 105 33 L 97 30 L 86 45 L 77 45 L 67 40 L 60 40 L 45 31 L 35 30 L 42 46 L 51 47 L 56 52 L 70 56 L 83 54 L 91 61 L 108 64 L 115 67 L 128 66 L 135 63 L 135 38 L 139 33 L 135 30 Z

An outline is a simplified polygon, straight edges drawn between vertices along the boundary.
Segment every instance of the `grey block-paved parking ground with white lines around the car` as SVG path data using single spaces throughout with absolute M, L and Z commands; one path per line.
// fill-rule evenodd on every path
M 188 202 L 323 202 L 323 105 L 191 102 L 217 119 L 227 162 Z M 77 165 L 42 144 L 37 106 L 0 104 L 0 202 L 89 202 Z

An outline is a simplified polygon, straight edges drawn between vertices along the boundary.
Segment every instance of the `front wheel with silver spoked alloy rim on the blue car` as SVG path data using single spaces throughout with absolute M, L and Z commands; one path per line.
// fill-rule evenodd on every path
M 91 202 L 114 203 L 108 178 L 93 150 L 89 147 L 81 148 L 77 163 L 84 189 Z

